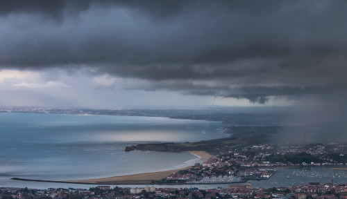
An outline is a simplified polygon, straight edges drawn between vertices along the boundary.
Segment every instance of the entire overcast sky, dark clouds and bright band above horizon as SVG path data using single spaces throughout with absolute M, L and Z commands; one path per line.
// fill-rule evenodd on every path
M 346 9 L 327 0 L 0 1 L 0 106 L 346 110 Z

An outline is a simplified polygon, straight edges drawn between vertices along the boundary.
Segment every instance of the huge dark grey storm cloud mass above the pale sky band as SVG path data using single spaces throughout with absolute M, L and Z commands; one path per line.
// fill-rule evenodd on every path
M 346 8 L 347 1 L 0 1 L 0 66 L 91 67 L 151 82 L 139 89 L 256 103 L 329 96 L 346 90 Z

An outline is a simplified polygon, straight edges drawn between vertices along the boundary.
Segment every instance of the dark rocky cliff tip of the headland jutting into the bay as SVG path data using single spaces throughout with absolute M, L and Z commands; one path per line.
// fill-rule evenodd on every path
M 137 144 L 135 146 L 126 146 L 125 151 L 169 151 L 169 152 L 181 152 L 185 151 L 184 147 L 172 146 L 173 143 L 165 144 Z

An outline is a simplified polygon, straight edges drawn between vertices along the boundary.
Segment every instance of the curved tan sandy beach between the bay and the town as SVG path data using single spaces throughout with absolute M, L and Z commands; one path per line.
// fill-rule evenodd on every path
M 212 157 L 209 153 L 205 151 L 187 151 L 193 155 L 198 156 L 204 162 Z M 151 184 L 152 180 L 160 180 L 170 176 L 172 173 L 176 173 L 180 170 L 189 169 L 190 167 L 185 167 L 181 169 L 174 169 L 169 171 L 158 171 L 151 173 L 138 173 L 126 176 L 115 176 L 110 178 L 96 178 L 87 180 L 64 180 L 62 182 L 72 182 L 72 183 L 92 183 L 92 184 Z

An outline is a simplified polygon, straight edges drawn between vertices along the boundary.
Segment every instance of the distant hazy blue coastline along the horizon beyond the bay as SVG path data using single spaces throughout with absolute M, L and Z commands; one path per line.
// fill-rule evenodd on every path
M 58 115 L 115 115 L 167 117 L 178 120 L 201 120 L 232 125 L 282 126 L 285 107 L 216 106 L 204 109 L 94 109 L 50 107 L 0 107 L 0 113 L 42 113 Z M 242 113 L 242 114 L 240 114 Z M 261 115 L 261 117 L 259 117 Z M 276 117 L 271 117 L 276 115 Z M 247 120 L 245 120 L 245 118 Z

